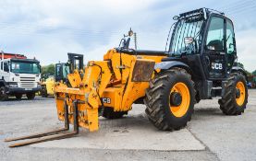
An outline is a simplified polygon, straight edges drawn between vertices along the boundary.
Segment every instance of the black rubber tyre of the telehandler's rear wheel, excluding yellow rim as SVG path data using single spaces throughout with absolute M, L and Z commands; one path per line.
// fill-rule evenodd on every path
M 246 105 L 248 103 L 248 90 L 246 85 L 245 85 L 246 98 L 245 98 L 244 105 L 242 107 L 238 107 L 236 98 L 234 98 L 234 92 L 236 92 L 235 86 L 236 86 L 237 79 L 241 79 L 241 78 L 243 78 L 244 79 L 243 81 L 245 82 L 244 75 L 241 75 L 239 73 L 230 74 L 224 89 L 225 90 L 224 96 L 218 101 L 220 105 L 220 109 L 226 115 L 240 115 L 246 109 Z

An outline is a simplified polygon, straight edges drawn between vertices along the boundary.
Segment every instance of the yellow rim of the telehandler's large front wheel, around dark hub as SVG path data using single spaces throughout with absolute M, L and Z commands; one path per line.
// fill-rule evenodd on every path
M 171 103 L 171 96 L 173 93 L 178 93 L 181 96 L 181 102 L 178 106 L 173 105 Z M 169 106 L 171 112 L 176 117 L 182 117 L 184 116 L 188 109 L 190 104 L 190 93 L 189 88 L 184 83 L 177 83 L 173 88 L 171 89 L 170 97 L 169 97 Z

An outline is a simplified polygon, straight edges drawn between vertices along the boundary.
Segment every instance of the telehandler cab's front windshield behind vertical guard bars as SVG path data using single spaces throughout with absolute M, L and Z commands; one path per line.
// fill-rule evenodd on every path
M 182 52 L 188 50 L 186 49 L 187 46 L 184 41 L 187 37 L 193 38 L 195 42 L 199 44 L 202 23 L 202 19 L 193 19 L 193 17 L 178 20 L 176 29 L 174 29 L 175 33 L 173 34 L 171 39 L 171 54 L 180 55 Z M 193 46 L 193 48 L 195 48 L 195 45 Z

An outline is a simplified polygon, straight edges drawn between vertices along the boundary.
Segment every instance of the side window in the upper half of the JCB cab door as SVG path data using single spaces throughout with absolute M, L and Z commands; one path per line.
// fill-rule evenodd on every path
M 224 18 L 212 17 L 207 34 L 206 48 L 210 51 L 224 52 Z

